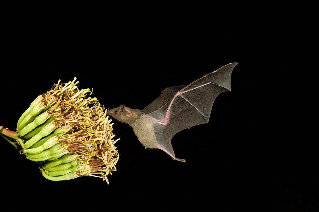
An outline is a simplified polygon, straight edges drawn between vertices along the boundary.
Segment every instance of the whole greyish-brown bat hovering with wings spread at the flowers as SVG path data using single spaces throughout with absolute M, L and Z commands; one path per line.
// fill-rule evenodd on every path
M 173 136 L 186 128 L 208 123 L 215 98 L 230 91 L 230 78 L 238 63 L 230 63 L 190 83 L 166 88 L 143 110 L 121 105 L 107 114 L 129 124 L 145 148 L 158 148 L 175 157 Z

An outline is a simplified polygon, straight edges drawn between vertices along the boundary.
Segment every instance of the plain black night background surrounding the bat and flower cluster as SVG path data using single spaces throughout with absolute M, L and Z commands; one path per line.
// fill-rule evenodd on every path
M 3 4 L 0 125 L 11 130 L 59 79 L 77 77 L 105 107 L 143 109 L 166 87 L 239 64 L 210 122 L 172 139 L 186 163 L 145 150 L 115 120 L 120 159 L 110 185 L 56 182 L 1 139 L 1 206 L 315 211 L 318 145 L 303 130 L 315 107 L 303 99 L 315 98 L 316 69 L 305 65 L 318 4 L 236 2 Z

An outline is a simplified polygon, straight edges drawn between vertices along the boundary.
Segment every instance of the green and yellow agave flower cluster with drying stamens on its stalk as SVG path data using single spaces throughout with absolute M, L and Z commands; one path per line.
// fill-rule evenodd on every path
M 16 132 L 0 127 L 0 134 L 36 161 L 49 180 L 95 176 L 108 182 L 107 175 L 116 171 L 119 154 L 114 144 L 119 139 L 113 139 L 113 123 L 104 106 L 86 97 L 90 89 L 79 90 L 75 80 L 64 85 L 59 80 L 31 103 Z

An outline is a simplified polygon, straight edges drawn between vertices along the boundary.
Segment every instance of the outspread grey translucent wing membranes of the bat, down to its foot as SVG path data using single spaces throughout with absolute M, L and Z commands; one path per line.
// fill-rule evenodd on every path
M 179 131 L 208 123 L 216 97 L 231 90 L 230 78 L 237 64 L 223 66 L 189 85 L 166 88 L 145 108 L 150 111 L 148 116 L 156 120 L 153 132 L 159 149 L 185 162 L 175 158 L 171 139 Z

